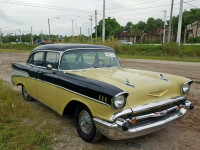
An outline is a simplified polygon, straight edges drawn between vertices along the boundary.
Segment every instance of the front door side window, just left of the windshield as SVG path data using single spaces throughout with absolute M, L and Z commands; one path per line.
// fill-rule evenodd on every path
M 58 68 L 59 53 L 47 52 L 45 66 L 52 65 L 53 68 Z

